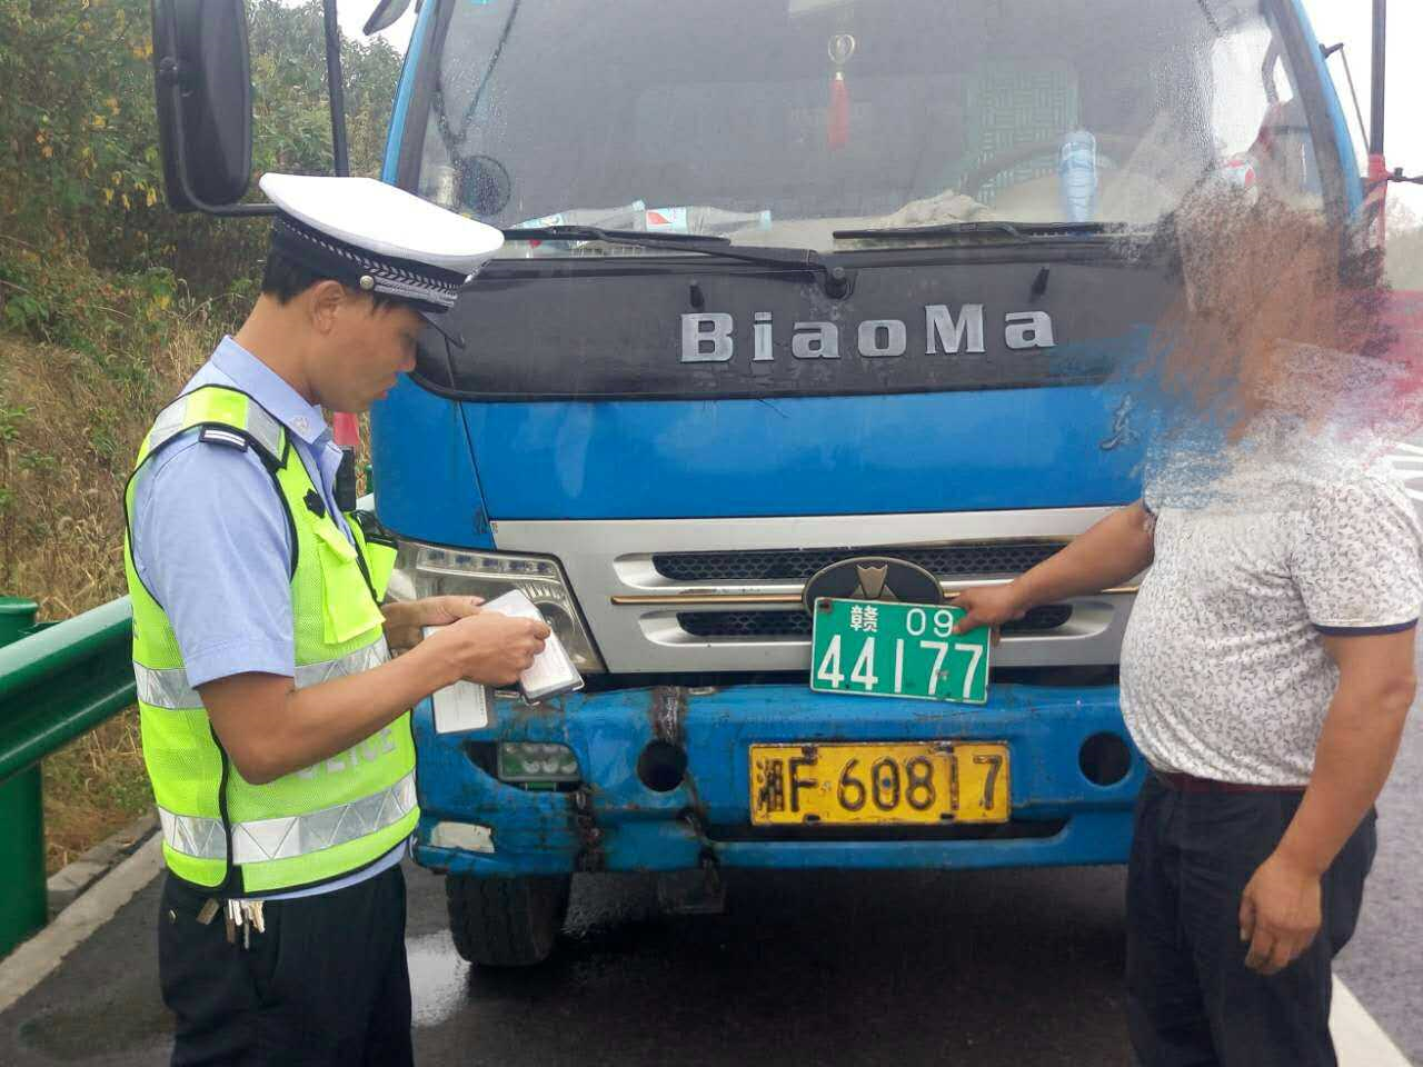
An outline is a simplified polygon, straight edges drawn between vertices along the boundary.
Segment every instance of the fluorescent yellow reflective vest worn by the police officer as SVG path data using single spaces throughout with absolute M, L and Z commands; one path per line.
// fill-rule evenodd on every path
M 296 687 L 384 663 L 390 652 L 379 602 L 394 548 L 367 536 L 354 516 L 351 545 L 334 516 L 306 506 L 316 487 L 286 428 L 245 393 L 205 386 L 159 413 L 128 481 L 129 529 L 139 471 L 194 428 L 205 441 L 253 448 L 286 506 L 296 538 Z M 188 684 L 172 625 L 138 578 L 128 536 L 124 566 L 134 603 L 144 761 L 162 822 L 164 858 L 175 875 L 232 896 L 289 891 L 357 871 L 410 835 L 420 811 L 408 711 L 320 764 L 265 785 L 245 781 Z

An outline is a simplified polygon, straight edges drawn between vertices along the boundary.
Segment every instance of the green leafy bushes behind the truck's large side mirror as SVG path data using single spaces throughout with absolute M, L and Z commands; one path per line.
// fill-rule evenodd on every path
M 319 0 L 248 0 L 248 16 L 253 179 L 330 174 Z M 266 245 L 260 221 L 168 209 L 149 17 L 149 0 L 0 0 L 0 330 L 121 374 L 175 303 L 235 317 Z M 379 38 L 342 54 L 351 169 L 374 175 L 400 55 Z

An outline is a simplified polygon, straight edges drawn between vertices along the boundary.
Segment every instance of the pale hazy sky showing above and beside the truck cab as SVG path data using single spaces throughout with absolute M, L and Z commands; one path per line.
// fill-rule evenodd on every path
M 1057 0 L 1049 1 L 1057 3 Z M 1369 83 L 1373 70 L 1370 60 L 1373 0 L 1305 0 L 1305 9 L 1313 20 L 1315 33 L 1321 43 L 1345 41 L 1349 67 L 1353 70 L 1353 81 L 1359 90 L 1359 104 L 1368 122 Z M 340 0 L 337 10 L 346 33 L 359 36 L 366 18 L 374 10 L 374 1 Z M 411 4 L 400 21 L 381 36 L 397 50 L 404 51 L 414 24 L 414 4 Z M 1423 64 L 1410 54 L 1412 48 L 1420 44 L 1423 44 L 1423 3 L 1420 0 L 1390 0 L 1386 148 L 1389 162 L 1395 166 L 1405 166 L 1409 175 L 1423 174 Z M 1353 118 L 1353 104 L 1348 95 L 1349 87 L 1343 77 L 1343 64 L 1338 55 L 1329 60 L 1329 70 L 1339 85 L 1350 127 L 1358 127 L 1358 120 Z M 1355 131 L 1355 137 L 1362 139 L 1358 131 Z M 1416 213 L 1423 215 L 1423 186 L 1395 185 L 1393 195 L 1402 196 Z

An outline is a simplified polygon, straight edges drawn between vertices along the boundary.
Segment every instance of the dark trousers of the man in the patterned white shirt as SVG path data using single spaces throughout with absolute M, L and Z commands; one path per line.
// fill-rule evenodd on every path
M 1331 965 L 1353 935 L 1373 864 L 1369 812 L 1322 879 L 1323 923 L 1278 975 L 1245 966 L 1245 883 L 1299 792 L 1181 792 L 1137 801 L 1127 872 L 1127 1023 L 1141 1067 L 1335 1067 Z

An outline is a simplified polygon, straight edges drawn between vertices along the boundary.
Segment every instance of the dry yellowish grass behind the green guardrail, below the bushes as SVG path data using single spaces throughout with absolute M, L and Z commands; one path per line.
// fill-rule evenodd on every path
M 124 588 L 124 482 L 139 437 L 206 359 L 221 330 L 175 316 L 148 367 L 0 337 L 0 592 L 41 619 L 95 607 Z M 57 871 L 152 802 L 129 708 L 44 763 L 46 862 Z

